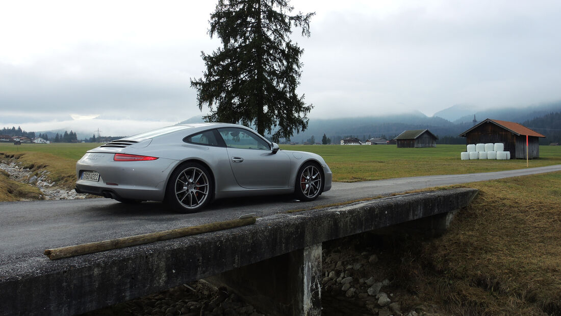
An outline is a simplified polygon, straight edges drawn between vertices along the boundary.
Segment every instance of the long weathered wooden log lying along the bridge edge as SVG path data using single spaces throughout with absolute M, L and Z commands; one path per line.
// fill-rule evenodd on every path
M 203 224 L 203 225 L 191 226 L 191 227 L 182 227 L 182 228 L 176 228 L 174 230 L 145 233 L 143 235 L 89 242 L 88 244 L 47 249 L 44 251 L 44 254 L 47 257 L 49 257 L 49 259 L 51 260 L 75 257 L 77 255 L 98 253 L 100 251 L 106 251 L 111 249 L 149 244 L 150 242 L 197 235 L 205 232 L 226 230 L 228 228 L 251 225 L 254 224 L 255 221 L 256 221 L 255 217 L 232 219 L 231 221 L 209 223 L 209 224 Z

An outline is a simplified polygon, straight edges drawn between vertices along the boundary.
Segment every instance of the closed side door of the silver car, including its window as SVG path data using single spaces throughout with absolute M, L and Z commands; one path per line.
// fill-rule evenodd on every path
M 231 127 L 218 131 L 226 143 L 230 166 L 240 186 L 248 189 L 289 186 L 287 154 L 280 150 L 273 153 L 269 143 L 249 130 Z

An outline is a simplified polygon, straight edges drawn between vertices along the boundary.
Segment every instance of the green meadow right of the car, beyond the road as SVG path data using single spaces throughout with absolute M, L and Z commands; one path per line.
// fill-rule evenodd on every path
M 397 148 L 393 145 L 283 145 L 321 155 L 333 171 L 334 181 L 353 182 L 387 178 L 457 175 L 526 168 L 522 159 L 462 161 L 465 145 L 437 145 L 436 148 Z M 530 167 L 561 164 L 561 146 L 540 146 L 540 158 Z

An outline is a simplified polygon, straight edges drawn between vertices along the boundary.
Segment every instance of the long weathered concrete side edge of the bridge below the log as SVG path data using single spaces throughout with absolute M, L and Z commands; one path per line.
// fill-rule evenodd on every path
M 304 258 L 311 258 L 321 242 L 461 209 L 476 194 L 473 189 L 443 190 L 280 213 L 232 230 L 25 266 L 14 263 L 0 275 L 0 314 L 80 314 L 293 251 L 308 248 L 311 253 L 302 253 L 301 261 L 309 261 Z M 304 310 L 302 304 L 298 310 Z M 310 310 L 316 309 L 312 304 Z

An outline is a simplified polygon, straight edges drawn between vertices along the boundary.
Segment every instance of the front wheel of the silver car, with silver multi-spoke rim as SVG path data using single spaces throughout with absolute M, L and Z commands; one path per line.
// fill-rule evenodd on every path
M 318 164 L 306 162 L 296 174 L 295 195 L 301 201 L 312 201 L 323 191 L 323 173 Z

